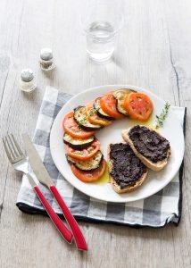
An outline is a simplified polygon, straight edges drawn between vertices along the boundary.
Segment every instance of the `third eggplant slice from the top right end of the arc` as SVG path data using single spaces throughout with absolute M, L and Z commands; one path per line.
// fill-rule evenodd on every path
M 87 120 L 87 113 L 85 106 L 79 106 L 76 109 L 74 109 L 73 117 L 83 130 L 92 131 L 92 130 L 100 130 L 102 128 L 101 125 L 92 124 L 90 123 L 90 121 Z

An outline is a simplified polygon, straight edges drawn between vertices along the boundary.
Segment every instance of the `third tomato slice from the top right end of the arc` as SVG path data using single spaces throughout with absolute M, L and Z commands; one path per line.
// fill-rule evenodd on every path
M 91 101 L 86 106 L 88 121 L 90 121 L 92 124 L 98 124 L 101 126 L 111 125 L 112 121 L 106 120 L 104 118 L 99 117 L 99 115 L 97 115 L 96 110 L 93 107 L 94 103 L 95 103 L 95 101 Z

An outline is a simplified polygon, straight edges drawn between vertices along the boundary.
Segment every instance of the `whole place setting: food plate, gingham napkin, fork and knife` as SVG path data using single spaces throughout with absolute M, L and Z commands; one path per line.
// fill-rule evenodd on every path
M 47 87 L 33 139 L 22 135 L 25 152 L 13 135 L 3 139 L 12 166 L 24 173 L 16 205 L 48 214 L 62 237 L 85 251 L 76 220 L 178 224 L 185 114 L 131 85 L 76 96 Z

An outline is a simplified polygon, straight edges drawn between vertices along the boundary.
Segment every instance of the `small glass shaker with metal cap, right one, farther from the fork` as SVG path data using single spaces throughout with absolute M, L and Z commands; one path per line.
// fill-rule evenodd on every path
M 40 68 L 43 71 L 51 71 L 55 68 L 53 52 L 51 48 L 45 47 L 40 51 Z

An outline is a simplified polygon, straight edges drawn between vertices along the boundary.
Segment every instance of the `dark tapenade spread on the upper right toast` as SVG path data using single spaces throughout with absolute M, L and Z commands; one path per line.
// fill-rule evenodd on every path
M 169 141 L 154 130 L 137 125 L 129 130 L 129 138 L 137 151 L 153 163 L 162 161 L 168 156 Z

